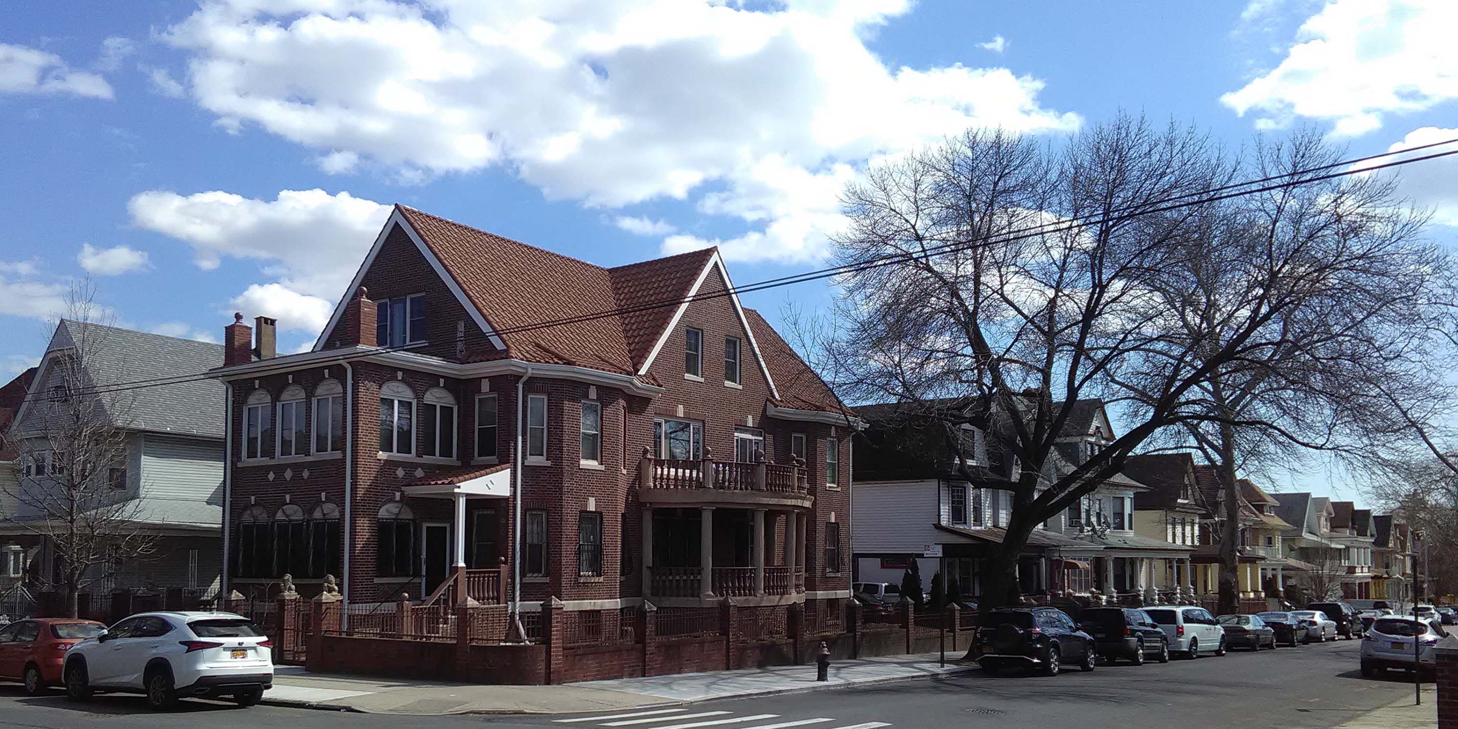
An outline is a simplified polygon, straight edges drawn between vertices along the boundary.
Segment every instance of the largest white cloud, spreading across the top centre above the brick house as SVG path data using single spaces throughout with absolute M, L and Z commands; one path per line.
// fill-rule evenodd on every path
M 551 198 L 608 208 L 709 185 L 751 194 L 765 163 L 838 176 L 972 125 L 1079 125 L 1038 102 L 1040 80 L 1006 69 L 885 66 L 866 39 L 908 9 L 211 0 L 163 38 L 190 54 L 192 98 L 223 128 L 296 141 L 327 172 L 369 163 L 423 181 L 502 165 Z M 824 252 L 815 222 L 833 192 L 793 208 L 752 197 L 713 207 L 777 211 L 741 222 L 776 245 L 760 257 L 802 260 Z

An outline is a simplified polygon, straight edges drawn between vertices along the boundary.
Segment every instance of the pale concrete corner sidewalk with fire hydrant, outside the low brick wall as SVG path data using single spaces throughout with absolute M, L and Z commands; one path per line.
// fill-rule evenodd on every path
M 566 685 L 478 685 L 309 674 L 278 666 L 265 704 L 383 714 L 573 713 L 671 706 L 709 698 L 786 694 L 856 684 L 959 674 L 975 666 L 936 653 L 837 660 L 830 681 L 815 666 L 771 666 Z

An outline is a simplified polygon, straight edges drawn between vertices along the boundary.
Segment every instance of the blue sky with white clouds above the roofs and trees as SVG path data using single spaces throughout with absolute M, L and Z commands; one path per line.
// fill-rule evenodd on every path
M 819 264 L 866 163 L 968 125 L 1455 137 L 1455 6 L 23 1 L 0 29 L 0 375 L 86 274 L 122 325 L 271 313 L 302 347 L 397 201 L 608 265 L 719 243 L 744 284 Z M 1407 175 L 1448 241 L 1455 172 Z

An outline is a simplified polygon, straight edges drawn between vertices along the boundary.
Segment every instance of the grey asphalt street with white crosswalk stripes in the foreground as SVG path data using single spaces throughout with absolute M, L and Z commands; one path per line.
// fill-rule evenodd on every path
M 1101 665 L 1092 674 L 1073 669 L 1053 678 L 1013 672 L 987 677 L 977 672 L 946 679 L 576 716 L 407 719 L 270 706 L 238 709 L 197 700 L 182 701 L 178 710 L 157 714 L 147 710 L 140 697 L 101 695 L 87 704 L 73 704 L 60 693 L 29 698 L 19 687 L 0 685 L 0 728 L 977 729 L 1021 723 L 1079 729 L 1312 729 L 1340 726 L 1411 694 L 1411 678 L 1404 674 L 1363 679 L 1357 672 L 1357 642 L 1343 640 L 1260 653 L 1232 652 L 1193 662 L 1175 659 L 1166 665 L 1146 663 L 1139 668 L 1128 663 Z

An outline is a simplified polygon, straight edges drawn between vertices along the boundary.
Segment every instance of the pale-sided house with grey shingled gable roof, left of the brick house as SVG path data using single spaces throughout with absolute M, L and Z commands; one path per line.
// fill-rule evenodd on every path
M 79 344 L 83 343 L 83 344 Z M 77 354 L 85 347 L 85 354 Z M 80 362 L 87 389 L 207 372 L 223 360 L 223 347 L 140 331 L 63 319 L 9 430 L 19 449 L 20 499 L 15 518 L 0 522 L 0 539 L 31 557 L 32 592 L 55 586 L 55 555 L 39 532 L 48 509 L 45 488 L 55 465 L 44 437 L 55 397 L 99 398 L 101 417 L 125 433 L 125 467 L 111 468 L 101 488 L 125 502 L 136 526 L 157 537 L 155 554 L 115 566 L 93 566 L 82 586 L 82 609 L 105 617 L 141 604 L 188 605 L 216 593 L 222 573 L 223 386 L 190 379 L 155 386 L 66 395 L 63 369 Z M 117 502 L 112 502 L 117 503 Z M 54 510 L 54 509 L 52 509 Z M 139 605 L 141 605 L 139 604 Z

